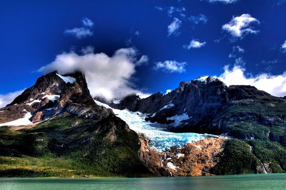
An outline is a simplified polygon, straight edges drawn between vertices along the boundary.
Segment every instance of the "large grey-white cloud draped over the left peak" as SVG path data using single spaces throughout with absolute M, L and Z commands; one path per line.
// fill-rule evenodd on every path
M 145 56 L 142 57 L 139 62 L 146 60 Z M 140 90 L 134 89 L 130 82 L 135 73 L 137 58 L 138 52 L 134 48 L 118 49 L 111 57 L 105 53 L 88 52 L 78 55 L 69 52 L 57 55 L 55 61 L 38 71 L 49 73 L 57 70 L 61 75 L 82 71 L 92 97 L 100 96 L 112 100 L 130 94 L 144 95 Z

